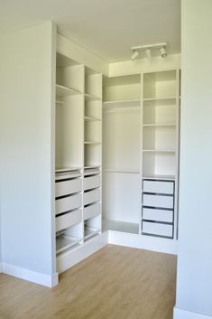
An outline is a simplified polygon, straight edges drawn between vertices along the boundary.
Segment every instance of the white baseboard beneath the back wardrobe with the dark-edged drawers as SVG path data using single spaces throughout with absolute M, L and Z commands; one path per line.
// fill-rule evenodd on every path
M 108 244 L 178 254 L 177 240 L 140 236 L 115 230 L 108 230 Z

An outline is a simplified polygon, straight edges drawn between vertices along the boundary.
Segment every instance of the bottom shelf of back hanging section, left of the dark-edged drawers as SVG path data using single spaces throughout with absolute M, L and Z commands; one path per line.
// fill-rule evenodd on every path
M 134 222 L 125 222 L 120 220 L 103 220 L 103 231 L 115 230 L 139 234 L 139 224 Z

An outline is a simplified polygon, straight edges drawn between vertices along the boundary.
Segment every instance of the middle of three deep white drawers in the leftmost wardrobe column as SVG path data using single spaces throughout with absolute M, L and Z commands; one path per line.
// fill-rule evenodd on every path
M 82 194 L 77 193 L 68 197 L 60 198 L 55 201 L 56 214 L 60 214 L 64 211 L 75 210 L 82 205 Z

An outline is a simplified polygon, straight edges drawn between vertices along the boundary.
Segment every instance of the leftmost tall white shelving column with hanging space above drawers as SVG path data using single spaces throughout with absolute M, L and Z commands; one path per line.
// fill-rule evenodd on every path
M 84 66 L 57 52 L 55 222 L 57 269 L 83 243 Z

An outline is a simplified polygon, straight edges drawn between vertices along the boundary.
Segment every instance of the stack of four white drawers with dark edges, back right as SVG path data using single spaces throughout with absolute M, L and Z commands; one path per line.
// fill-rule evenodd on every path
M 143 235 L 173 238 L 174 181 L 143 179 Z

